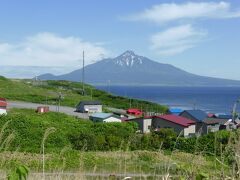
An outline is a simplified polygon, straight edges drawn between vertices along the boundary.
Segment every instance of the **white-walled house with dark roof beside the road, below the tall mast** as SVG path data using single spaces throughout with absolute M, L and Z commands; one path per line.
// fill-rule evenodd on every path
M 102 104 L 99 101 L 81 101 L 76 106 L 76 112 L 80 113 L 102 112 Z

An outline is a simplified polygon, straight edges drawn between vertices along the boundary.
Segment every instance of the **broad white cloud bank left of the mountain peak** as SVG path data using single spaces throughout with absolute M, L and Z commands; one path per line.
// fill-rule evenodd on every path
M 109 55 L 101 45 L 78 37 L 39 33 L 15 44 L 0 43 L 0 65 L 76 66 L 81 65 L 83 50 L 86 64 Z

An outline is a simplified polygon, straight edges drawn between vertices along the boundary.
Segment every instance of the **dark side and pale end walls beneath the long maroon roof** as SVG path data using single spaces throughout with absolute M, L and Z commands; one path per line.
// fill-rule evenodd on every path
M 181 126 L 179 124 L 175 124 L 173 122 L 161 119 L 161 118 L 154 118 L 152 121 L 152 127 L 153 128 L 173 128 L 174 131 L 177 134 L 180 134 L 181 132 L 183 132 L 183 135 L 185 136 L 185 132 L 184 129 L 187 127 Z M 195 126 L 194 126 L 195 127 Z M 191 128 L 186 130 L 186 132 L 191 132 Z

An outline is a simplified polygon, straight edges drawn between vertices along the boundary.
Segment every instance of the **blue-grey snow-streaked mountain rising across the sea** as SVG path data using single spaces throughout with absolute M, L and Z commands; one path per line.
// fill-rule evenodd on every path
M 81 81 L 82 69 L 60 76 L 43 74 L 38 78 Z M 191 74 L 170 64 L 136 55 L 132 51 L 86 66 L 85 82 L 93 85 L 240 86 L 240 81 Z

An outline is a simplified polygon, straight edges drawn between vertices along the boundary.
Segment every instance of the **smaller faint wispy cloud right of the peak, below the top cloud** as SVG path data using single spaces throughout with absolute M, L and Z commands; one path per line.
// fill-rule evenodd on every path
M 159 55 L 178 54 L 196 46 L 206 36 L 206 31 L 196 30 L 190 24 L 172 27 L 151 36 L 151 49 Z

